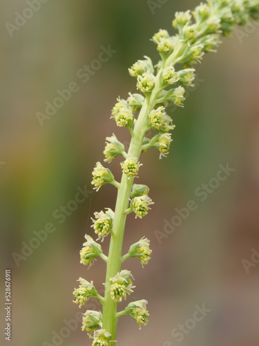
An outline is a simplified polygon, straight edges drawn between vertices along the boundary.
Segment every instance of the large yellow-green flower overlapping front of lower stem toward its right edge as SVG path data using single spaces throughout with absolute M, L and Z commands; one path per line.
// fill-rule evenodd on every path
M 132 284 L 131 277 L 131 272 L 124 270 L 110 279 L 109 291 L 115 302 L 122 302 L 123 298 L 126 299 L 126 294 L 133 292 L 135 286 Z

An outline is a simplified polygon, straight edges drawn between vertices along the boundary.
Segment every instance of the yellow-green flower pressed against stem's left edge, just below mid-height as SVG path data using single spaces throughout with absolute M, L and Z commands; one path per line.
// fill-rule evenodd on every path
M 91 218 L 94 223 L 91 227 L 93 227 L 95 233 L 98 235 L 98 239 L 104 239 L 111 232 L 113 218 L 114 212 L 110 208 L 106 208 L 106 212 L 95 212 L 95 219 Z

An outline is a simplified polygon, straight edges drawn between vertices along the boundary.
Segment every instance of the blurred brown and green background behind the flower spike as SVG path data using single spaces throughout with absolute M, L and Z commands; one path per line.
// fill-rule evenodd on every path
M 36 1 L 32 13 L 28 2 L 0 4 L 1 282 L 10 268 L 11 343 L 91 345 L 81 323 L 71 322 L 79 316 L 72 292 L 79 276 L 102 290 L 105 266 L 98 260 L 87 270 L 79 250 L 84 235 L 93 235 L 93 212 L 114 208 L 116 199 L 112 186 L 93 192 L 91 172 L 104 158 L 106 136 L 130 139 L 110 119 L 116 98 L 135 91 L 128 67 L 143 55 L 157 62 L 153 33 L 173 34 L 175 11 L 198 2 L 56 0 L 39 8 Z M 144 269 L 136 259 L 124 268 L 135 278 L 131 300 L 148 300 L 150 318 L 141 331 L 132 318 L 120 319 L 118 345 L 259 343 L 258 42 L 259 26 L 251 24 L 206 55 L 185 107 L 169 111 L 176 128 L 168 158 L 159 160 L 155 149 L 142 156 L 138 182 L 149 186 L 155 204 L 142 221 L 128 217 L 124 251 L 146 236 L 153 256 Z M 108 60 L 96 62 L 109 47 Z M 95 71 L 87 77 L 82 69 L 90 64 Z M 68 100 L 51 110 L 48 102 L 68 87 Z M 195 190 L 215 182 L 227 163 L 235 170 L 201 201 Z M 119 179 L 119 158 L 109 168 Z M 190 200 L 196 210 L 166 235 L 175 208 Z M 42 241 L 32 240 L 36 234 Z M 102 246 L 107 252 L 108 238 Z M 197 306 L 209 312 L 193 323 Z M 101 309 L 94 301 L 87 308 Z M 179 325 L 186 330 L 181 337 Z

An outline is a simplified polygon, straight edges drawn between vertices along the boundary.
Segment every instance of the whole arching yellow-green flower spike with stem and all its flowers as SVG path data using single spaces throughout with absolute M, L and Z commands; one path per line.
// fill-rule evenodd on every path
M 148 197 L 146 185 L 133 184 L 139 174 L 142 163 L 140 154 L 155 147 L 160 156 L 169 153 L 172 142 L 171 133 L 174 129 L 173 120 L 166 114 L 169 102 L 182 107 L 184 91 L 193 86 L 195 79 L 195 63 L 200 62 L 205 53 L 215 52 L 220 44 L 220 35 L 228 36 L 236 24 L 247 24 L 249 19 L 259 19 L 259 0 L 209 0 L 201 3 L 193 12 L 176 12 L 173 27 L 178 30 L 171 36 L 167 30 L 159 30 L 152 40 L 157 46 L 161 60 L 156 66 L 149 57 L 138 60 L 130 69 L 129 74 L 137 79 L 140 93 L 129 93 L 126 100 L 118 99 L 112 109 L 112 118 L 117 126 L 126 127 L 131 133 L 131 145 L 126 152 L 124 145 L 113 136 L 106 138 L 104 149 L 105 162 L 122 156 L 122 179 L 119 182 L 108 168 L 97 162 L 93 170 L 92 184 L 95 190 L 110 183 L 117 188 L 115 211 L 106 208 L 95 212 L 93 229 L 97 240 L 111 235 L 108 256 L 104 255 L 102 246 L 92 237 L 86 235 L 86 242 L 80 251 L 80 263 L 90 266 L 97 257 L 106 262 L 106 281 L 104 297 L 97 293 L 93 282 L 79 278 L 79 288 L 75 289 L 75 303 L 82 307 L 91 297 L 97 298 L 103 311 L 87 310 L 83 314 L 82 330 L 93 333 L 93 346 L 114 346 L 118 318 L 129 315 L 140 327 L 148 322 L 146 300 L 130 302 L 126 309 L 117 311 L 117 304 L 131 295 L 133 277 L 130 271 L 121 270 L 122 262 L 130 257 L 138 257 L 142 266 L 151 258 L 149 240 L 142 237 L 133 244 L 126 255 L 122 256 L 122 243 L 126 217 L 133 212 L 135 217 L 142 219 L 148 214 L 153 201 Z M 182 64 L 182 69 L 176 68 Z M 138 116 L 137 116 L 138 114 Z M 145 136 L 153 129 L 152 138 Z

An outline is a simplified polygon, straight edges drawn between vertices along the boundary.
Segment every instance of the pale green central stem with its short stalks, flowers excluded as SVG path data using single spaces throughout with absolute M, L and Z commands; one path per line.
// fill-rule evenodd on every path
M 213 17 L 213 15 L 217 13 L 217 11 L 220 11 L 219 6 L 221 5 L 218 1 L 214 0 L 211 0 L 211 4 L 213 8 L 211 17 Z M 198 30 L 198 35 L 202 36 L 207 32 L 207 27 L 202 28 L 202 25 L 200 25 L 200 28 L 198 28 Z M 146 149 L 148 147 L 148 145 L 142 146 L 144 134 L 148 129 L 148 113 L 153 110 L 153 107 L 155 107 L 155 104 L 157 103 L 157 100 L 159 98 L 160 89 L 164 89 L 164 85 L 160 80 L 162 69 L 164 69 L 166 66 L 169 66 L 170 64 L 175 65 L 177 63 L 184 62 L 184 58 L 186 58 L 184 56 L 186 48 L 188 48 L 191 44 L 192 42 L 180 41 L 179 44 L 174 48 L 173 53 L 169 55 L 169 57 L 166 58 L 165 56 L 162 56 L 162 68 L 160 69 L 160 71 L 158 71 L 155 78 L 155 87 L 152 93 L 146 93 L 146 99 L 144 101 L 144 104 L 142 105 L 140 114 L 135 121 L 134 130 L 132 128 L 129 128 L 129 130 L 131 131 L 132 139 L 131 145 L 128 149 L 128 156 L 137 158 L 137 161 L 140 158 L 142 149 Z M 124 156 L 124 158 L 128 157 L 126 156 L 126 153 L 122 153 L 122 155 Z M 119 313 L 117 313 L 117 302 L 114 302 L 112 300 L 110 291 L 108 289 L 110 287 L 111 278 L 115 277 L 115 275 L 121 270 L 122 262 L 130 257 L 129 255 L 124 255 L 124 257 L 122 257 L 122 243 L 124 238 L 126 217 L 127 213 L 130 211 L 128 210 L 128 203 L 131 197 L 133 181 L 134 178 L 128 179 L 128 176 L 126 176 L 126 174 L 122 174 L 121 183 L 113 182 L 113 185 L 118 188 L 117 202 L 115 206 L 115 217 L 113 220 L 113 233 L 111 233 L 111 243 L 108 258 L 106 259 L 106 257 L 102 257 L 104 260 L 106 260 L 107 263 L 106 292 L 104 298 L 99 298 L 99 300 L 101 300 L 103 304 L 102 327 L 106 331 L 111 333 L 111 340 L 113 340 L 113 342 L 111 342 L 110 344 L 111 346 L 115 346 L 117 319 L 120 316 L 123 316 L 125 314 L 125 311 L 120 311 Z

